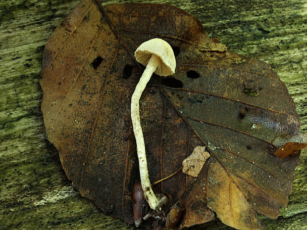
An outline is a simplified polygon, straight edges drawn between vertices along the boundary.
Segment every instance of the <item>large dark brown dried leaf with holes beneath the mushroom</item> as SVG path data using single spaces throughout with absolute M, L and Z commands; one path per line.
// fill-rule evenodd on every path
M 299 154 L 278 159 L 273 143 L 298 134 L 295 104 L 269 65 L 227 51 L 173 6 L 82 0 L 51 35 L 42 111 L 67 177 L 104 212 L 133 223 L 139 174 L 130 98 L 144 69 L 133 53 L 156 37 L 176 51 L 177 68 L 153 76 L 141 97 L 150 180 L 178 171 L 196 146 L 210 154 L 197 178 L 177 173 L 153 186 L 170 200 L 161 213 L 178 203 L 179 228 L 212 220 L 212 211 L 234 228 L 261 228 L 256 215 L 277 218 L 291 192 Z

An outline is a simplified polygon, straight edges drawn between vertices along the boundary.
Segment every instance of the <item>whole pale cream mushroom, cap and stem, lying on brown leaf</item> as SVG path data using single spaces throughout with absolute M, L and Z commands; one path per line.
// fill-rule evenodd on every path
M 149 82 L 153 72 L 159 76 L 168 76 L 175 73 L 176 60 L 172 47 L 162 39 L 152 39 L 141 44 L 135 51 L 136 60 L 146 66 L 139 83 L 131 97 L 131 120 L 133 132 L 137 143 L 141 184 L 144 196 L 152 209 L 162 205 L 162 199 L 158 199 L 148 177 L 145 142 L 140 121 L 140 97 Z

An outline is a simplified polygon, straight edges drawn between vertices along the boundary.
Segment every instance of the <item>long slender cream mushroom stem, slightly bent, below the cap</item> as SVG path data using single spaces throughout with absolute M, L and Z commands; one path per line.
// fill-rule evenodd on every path
M 153 189 L 148 177 L 147 159 L 145 151 L 145 142 L 140 121 L 140 97 L 149 82 L 153 72 L 160 63 L 160 58 L 152 54 L 150 61 L 144 70 L 139 83 L 131 97 L 131 120 L 133 125 L 133 132 L 137 143 L 137 153 L 139 158 L 141 184 L 144 191 L 144 196 L 152 209 L 156 209 L 159 200 L 153 193 Z

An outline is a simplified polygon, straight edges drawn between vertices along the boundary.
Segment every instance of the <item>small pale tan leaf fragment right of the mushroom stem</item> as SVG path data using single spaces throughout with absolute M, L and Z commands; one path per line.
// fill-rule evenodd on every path
M 197 177 L 201 172 L 206 159 L 210 157 L 210 154 L 205 151 L 205 146 L 196 146 L 192 154 L 183 160 L 182 172 L 192 177 Z

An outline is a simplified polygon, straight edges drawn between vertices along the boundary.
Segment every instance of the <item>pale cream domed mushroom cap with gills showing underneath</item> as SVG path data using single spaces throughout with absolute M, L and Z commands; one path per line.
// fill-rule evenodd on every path
M 136 60 L 145 66 L 147 66 L 152 54 L 155 54 L 161 60 L 154 73 L 159 76 L 168 76 L 175 73 L 175 55 L 167 42 L 158 38 L 151 39 L 142 43 L 134 52 Z

